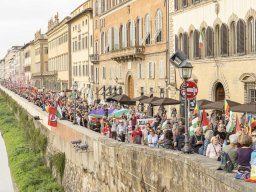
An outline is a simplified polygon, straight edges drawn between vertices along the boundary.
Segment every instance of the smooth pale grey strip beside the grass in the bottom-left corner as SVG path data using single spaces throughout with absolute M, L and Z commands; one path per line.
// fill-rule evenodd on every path
M 13 192 L 13 184 L 8 164 L 8 156 L 0 134 L 0 192 Z

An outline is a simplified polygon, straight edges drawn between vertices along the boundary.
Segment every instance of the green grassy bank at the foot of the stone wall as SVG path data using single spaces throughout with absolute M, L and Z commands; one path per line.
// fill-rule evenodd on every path
M 15 118 L 2 94 L 0 94 L 0 125 L 11 174 L 18 190 L 20 192 L 63 191 L 63 187 L 56 182 L 50 168 L 46 166 L 44 151 L 40 148 L 35 149 L 33 142 L 26 138 L 27 127 L 23 127 L 25 124 Z

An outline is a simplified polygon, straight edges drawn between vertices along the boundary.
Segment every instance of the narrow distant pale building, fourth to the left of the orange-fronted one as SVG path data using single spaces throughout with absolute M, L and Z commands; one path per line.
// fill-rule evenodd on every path
M 26 43 L 23 47 L 24 54 L 24 74 L 25 74 L 25 83 L 31 84 L 31 66 L 35 63 L 35 47 L 34 41 Z

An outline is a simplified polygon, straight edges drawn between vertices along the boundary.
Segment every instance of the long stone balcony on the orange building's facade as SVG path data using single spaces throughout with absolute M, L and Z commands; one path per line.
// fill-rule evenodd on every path
M 115 51 L 113 53 L 114 56 L 112 56 L 111 59 L 118 63 L 124 62 L 124 61 L 130 61 L 130 60 L 138 60 L 138 59 L 143 60 L 145 58 L 144 53 L 145 53 L 144 46 L 129 47 L 129 48 Z

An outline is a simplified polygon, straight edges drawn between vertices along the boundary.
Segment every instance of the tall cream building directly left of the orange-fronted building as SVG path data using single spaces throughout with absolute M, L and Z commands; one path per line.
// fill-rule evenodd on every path
M 83 97 L 88 96 L 94 78 L 94 66 L 89 57 L 93 53 L 92 8 L 92 1 L 86 1 L 71 12 L 71 19 L 67 22 L 71 36 L 72 81 L 77 82 Z

